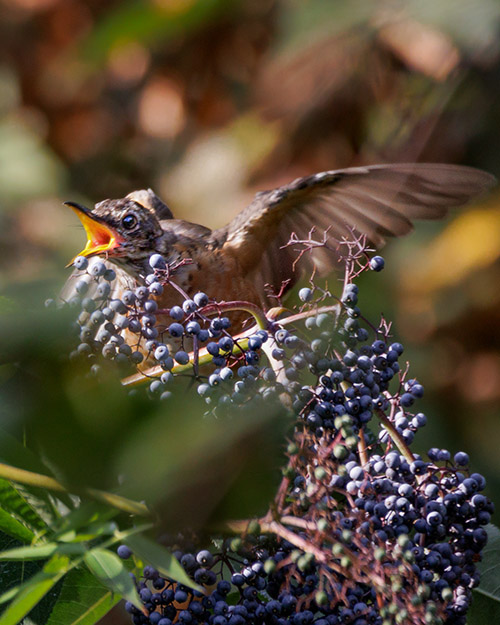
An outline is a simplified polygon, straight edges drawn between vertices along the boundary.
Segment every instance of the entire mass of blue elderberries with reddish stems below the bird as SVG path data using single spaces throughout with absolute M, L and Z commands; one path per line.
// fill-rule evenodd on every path
M 295 423 L 269 514 L 228 522 L 239 538 L 217 539 L 213 553 L 174 551 L 205 592 L 146 567 L 138 590 L 147 616 L 127 604 L 136 625 L 465 624 L 493 505 L 467 454 L 411 450 L 427 421 L 414 408 L 424 388 L 390 326 L 374 327 L 358 306 L 356 276 L 380 271 L 383 259 L 353 249 L 340 298 L 303 288 L 299 310 L 280 319 L 261 311 L 261 327 L 237 336 L 224 304 L 203 293 L 158 310 L 155 296 L 176 288 L 158 255 L 143 286 L 111 301 L 109 269 L 77 259 L 78 354 L 145 357 L 156 364 L 149 392 L 162 397 L 190 367 L 208 412 L 276 402 Z

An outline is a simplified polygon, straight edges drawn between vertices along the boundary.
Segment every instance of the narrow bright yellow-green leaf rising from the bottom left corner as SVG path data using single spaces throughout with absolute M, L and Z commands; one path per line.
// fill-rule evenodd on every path
M 43 569 L 17 588 L 12 603 L 0 616 L 0 625 L 19 625 L 22 619 L 45 597 L 68 571 L 70 560 L 54 556 Z M 9 596 L 12 591 L 8 591 Z M 3 597 L 0 597 L 2 602 Z

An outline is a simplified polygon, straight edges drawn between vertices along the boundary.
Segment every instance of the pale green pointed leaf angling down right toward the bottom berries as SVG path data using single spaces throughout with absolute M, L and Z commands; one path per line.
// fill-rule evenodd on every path
M 127 599 L 140 610 L 143 609 L 135 584 L 123 561 L 116 554 L 107 549 L 96 548 L 85 554 L 84 561 L 90 572 L 111 592 Z

